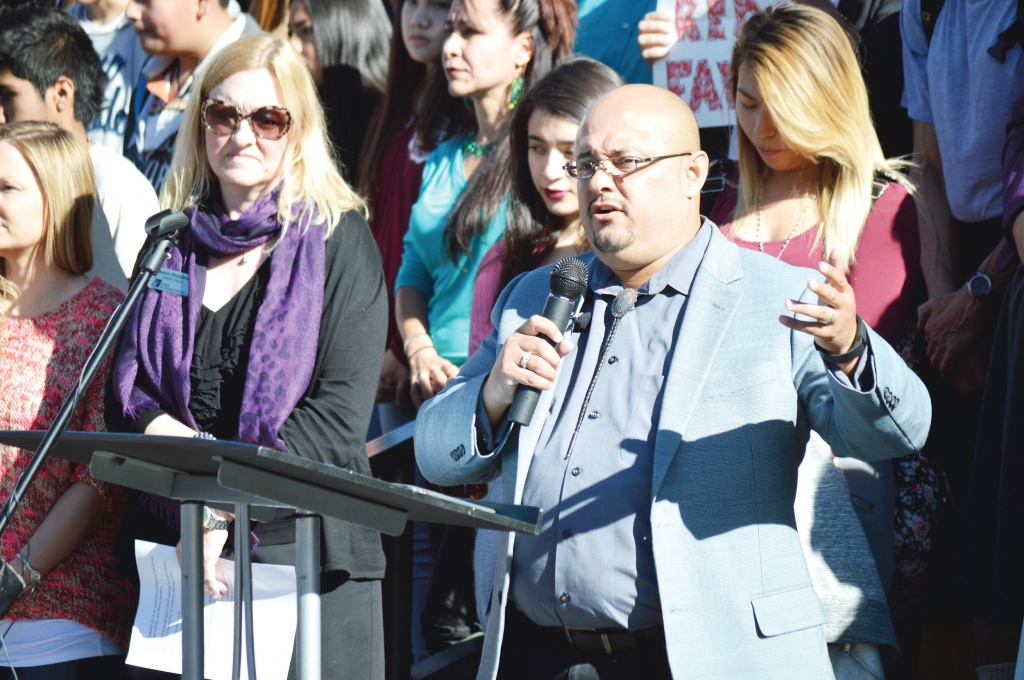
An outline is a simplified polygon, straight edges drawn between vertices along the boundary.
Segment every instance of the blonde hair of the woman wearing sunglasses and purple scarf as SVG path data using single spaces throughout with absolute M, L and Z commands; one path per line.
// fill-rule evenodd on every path
M 295 49 L 274 36 L 253 36 L 233 42 L 206 69 L 178 128 L 174 158 L 161 192 L 163 207 L 178 211 L 207 197 L 216 176 L 206 155 L 203 102 L 228 77 L 262 69 L 276 81 L 282 103 L 292 115 L 292 137 L 285 155 L 284 183 L 278 199 L 278 221 L 282 228 L 287 228 L 290 221 L 298 218 L 298 213 L 307 209 L 308 223 L 326 223 L 328 236 L 345 212 L 358 210 L 366 216 L 366 202 L 338 171 L 309 71 Z

